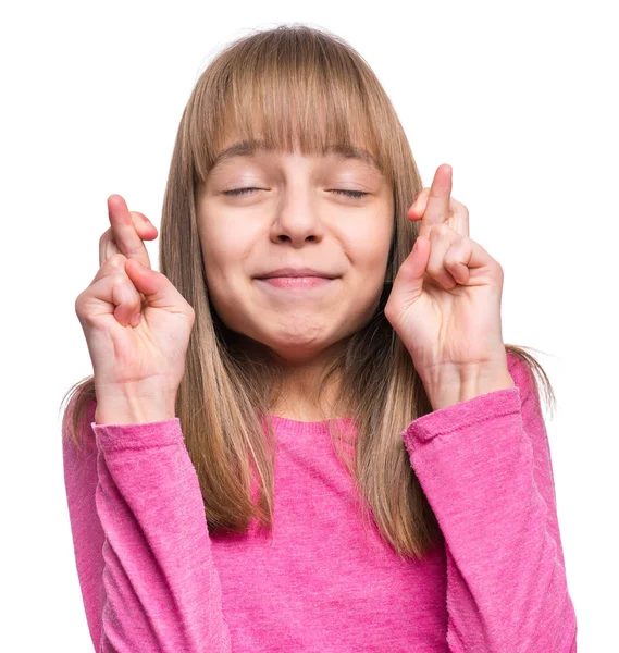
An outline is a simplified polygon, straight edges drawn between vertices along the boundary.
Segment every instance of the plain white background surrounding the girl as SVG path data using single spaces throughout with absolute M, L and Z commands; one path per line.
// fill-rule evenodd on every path
M 543 354 L 579 652 L 616 650 L 616 22 L 602 2 L 30 2 L 2 10 L 2 649 L 91 651 L 59 406 L 91 373 L 74 301 L 106 200 L 159 226 L 199 74 L 252 28 L 300 22 L 370 63 L 424 186 L 454 169 L 471 237 L 503 266 L 504 340 Z M 406 15 L 401 13 L 406 8 Z M 157 241 L 147 243 L 153 267 Z M 513 652 L 516 653 L 516 652 Z

